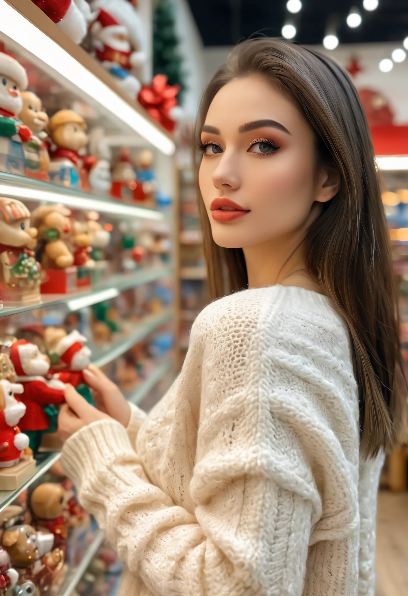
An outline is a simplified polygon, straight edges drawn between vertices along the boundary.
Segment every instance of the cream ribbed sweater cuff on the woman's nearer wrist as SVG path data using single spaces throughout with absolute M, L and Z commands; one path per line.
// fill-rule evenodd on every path
M 82 480 L 97 475 L 117 458 L 134 458 L 125 427 L 116 420 L 98 420 L 73 434 L 61 452 L 67 476 L 78 487 Z

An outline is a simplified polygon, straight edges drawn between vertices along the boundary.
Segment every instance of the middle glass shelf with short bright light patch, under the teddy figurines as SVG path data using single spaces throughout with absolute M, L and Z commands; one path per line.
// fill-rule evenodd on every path
M 92 286 L 91 291 L 75 292 L 70 294 L 42 294 L 42 302 L 24 306 L 5 306 L 0 311 L 2 316 L 17 315 L 19 312 L 33 311 L 37 308 L 47 308 L 57 304 L 66 304 L 70 311 L 78 311 L 85 306 L 97 304 L 103 300 L 115 298 L 123 290 L 134 288 L 137 285 L 148 284 L 151 281 L 163 280 L 173 274 L 171 267 L 140 269 L 133 274 L 113 274 L 103 283 Z

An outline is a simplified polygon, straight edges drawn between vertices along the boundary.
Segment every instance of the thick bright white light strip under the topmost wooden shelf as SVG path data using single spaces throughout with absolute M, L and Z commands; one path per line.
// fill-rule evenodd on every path
M 168 136 L 4 0 L 0 0 L 0 15 L 2 33 L 115 114 L 162 153 L 165 155 L 174 153 L 175 144 Z

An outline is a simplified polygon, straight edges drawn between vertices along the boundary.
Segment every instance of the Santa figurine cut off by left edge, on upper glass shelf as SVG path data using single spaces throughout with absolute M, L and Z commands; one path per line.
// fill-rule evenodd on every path
M 21 91 L 27 89 L 27 73 L 16 58 L 0 52 L 0 170 L 24 176 L 23 146 L 32 134 L 17 118 L 23 107 Z

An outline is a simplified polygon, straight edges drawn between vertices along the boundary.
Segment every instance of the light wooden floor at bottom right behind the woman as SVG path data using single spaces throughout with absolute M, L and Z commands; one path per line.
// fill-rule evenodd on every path
M 408 492 L 379 492 L 376 575 L 376 596 L 408 596 Z

